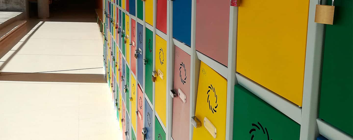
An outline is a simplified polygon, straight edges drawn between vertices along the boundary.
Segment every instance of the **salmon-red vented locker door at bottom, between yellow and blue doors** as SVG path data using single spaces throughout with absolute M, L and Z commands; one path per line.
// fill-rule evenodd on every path
M 137 129 L 136 129 L 136 134 L 137 134 L 137 140 L 144 140 L 142 137 L 142 132 L 143 132 L 143 92 L 142 89 L 140 87 L 140 85 L 138 85 L 138 89 L 137 89 Z

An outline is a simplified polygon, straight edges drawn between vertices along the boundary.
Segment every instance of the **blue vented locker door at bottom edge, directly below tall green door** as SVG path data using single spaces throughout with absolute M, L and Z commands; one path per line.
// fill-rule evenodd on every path
M 153 124 L 152 121 L 154 119 L 153 112 L 150 104 L 148 104 L 147 100 L 145 99 L 145 128 L 147 130 L 147 134 L 145 136 L 145 140 L 152 140 L 153 136 Z

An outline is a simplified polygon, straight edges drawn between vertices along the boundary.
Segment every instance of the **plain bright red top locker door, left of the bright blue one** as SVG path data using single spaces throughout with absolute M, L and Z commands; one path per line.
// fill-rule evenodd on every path
M 156 28 L 167 34 L 167 0 L 157 0 Z

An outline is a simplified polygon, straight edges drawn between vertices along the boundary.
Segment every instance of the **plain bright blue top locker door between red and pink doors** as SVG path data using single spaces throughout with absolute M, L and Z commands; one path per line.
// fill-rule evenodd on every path
M 191 0 L 173 1 L 173 37 L 191 46 Z

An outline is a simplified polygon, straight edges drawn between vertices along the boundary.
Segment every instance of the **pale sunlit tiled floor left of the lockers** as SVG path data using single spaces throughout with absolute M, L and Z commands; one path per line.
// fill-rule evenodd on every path
M 102 43 L 96 23 L 38 22 L 0 59 L 0 140 L 121 139 Z

